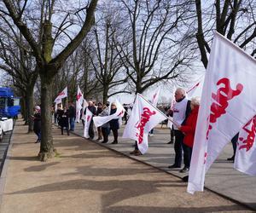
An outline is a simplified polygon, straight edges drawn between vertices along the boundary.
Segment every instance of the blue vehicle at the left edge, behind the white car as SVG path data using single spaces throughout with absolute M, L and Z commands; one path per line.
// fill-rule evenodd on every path
M 20 98 L 14 97 L 11 88 L 0 88 L 0 117 L 17 118 L 20 113 Z

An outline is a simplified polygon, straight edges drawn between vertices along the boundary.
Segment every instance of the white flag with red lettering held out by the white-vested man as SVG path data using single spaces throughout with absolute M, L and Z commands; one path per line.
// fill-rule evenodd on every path
M 148 132 L 166 116 L 146 101 L 142 95 L 137 95 L 131 116 L 125 126 L 123 138 L 137 141 L 141 153 L 148 150 Z

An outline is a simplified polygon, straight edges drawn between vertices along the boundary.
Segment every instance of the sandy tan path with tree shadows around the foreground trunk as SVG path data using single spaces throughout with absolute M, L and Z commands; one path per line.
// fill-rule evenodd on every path
M 60 133 L 54 128 L 60 155 L 42 163 L 37 160 L 35 135 L 26 134 L 26 127 L 16 123 L 0 180 L 2 213 L 252 212 L 208 190 L 192 196 L 175 176 L 77 135 Z M 161 130 L 156 133 L 164 135 Z M 151 140 L 154 153 L 150 148 L 140 159 L 165 168 L 172 158 L 160 151 L 172 148 L 164 142 Z M 115 147 L 125 153 L 131 150 L 131 142 L 122 141 Z

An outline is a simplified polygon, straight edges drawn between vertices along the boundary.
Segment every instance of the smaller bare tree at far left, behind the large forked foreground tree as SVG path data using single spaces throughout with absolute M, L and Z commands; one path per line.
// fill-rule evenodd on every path
M 26 47 L 27 43 L 19 34 L 14 35 L 15 41 L 7 34 L 4 28 L 1 28 L 0 58 L 4 64 L 0 64 L 0 68 L 9 73 L 13 78 L 14 86 L 20 89 L 20 95 L 25 101 L 23 116 L 30 132 L 33 130 L 31 119 L 34 104 L 33 89 L 38 78 L 36 61 L 26 49 L 21 48 L 21 46 Z

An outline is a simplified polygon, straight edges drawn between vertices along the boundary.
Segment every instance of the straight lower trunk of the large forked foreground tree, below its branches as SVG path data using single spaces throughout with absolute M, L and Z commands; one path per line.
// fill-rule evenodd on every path
M 45 73 L 40 71 L 40 73 Z M 44 74 L 41 78 L 41 146 L 38 157 L 41 161 L 46 161 L 47 158 L 52 158 L 55 155 L 53 145 L 52 130 L 51 130 L 51 104 L 52 104 L 52 82 L 53 78 L 49 78 Z

